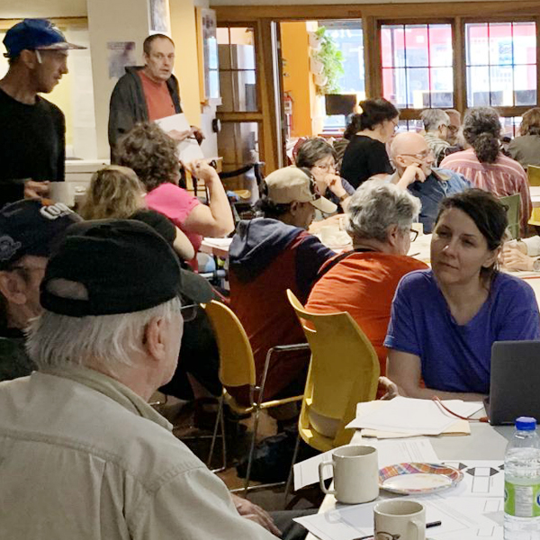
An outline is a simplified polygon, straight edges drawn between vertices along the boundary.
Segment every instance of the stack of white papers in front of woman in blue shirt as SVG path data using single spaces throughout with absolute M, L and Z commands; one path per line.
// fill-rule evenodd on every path
M 469 417 L 482 409 L 482 403 L 443 401 L 446 407 L 460 416 Z M 455 424 L 455 416 L 440 408 L 435 401 L 397 397 L 381 401 L 383 405 L 356 416 L 347 428 L 370 428 L 392 433 L 440 435 Z

